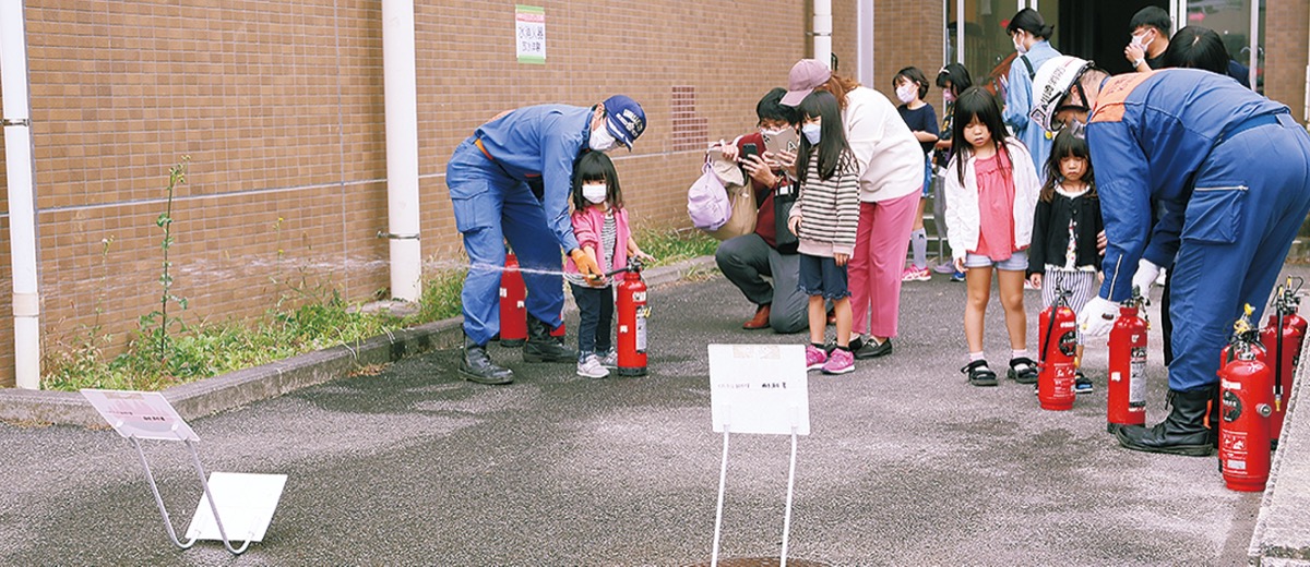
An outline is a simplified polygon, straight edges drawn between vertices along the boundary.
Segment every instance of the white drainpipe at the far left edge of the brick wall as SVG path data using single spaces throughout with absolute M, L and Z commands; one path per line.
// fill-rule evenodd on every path
M 0 0 L 0 97 L 4 97 L 4 162 L 9 183 L 9 247 L 13 262 L 13 360 L 18 388 L 41 388 L 41 296 L 37 292 L 37 206 L 28 100 L 28 35 L 22 0 Z

